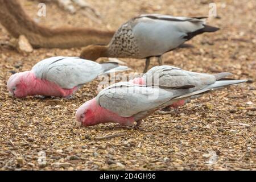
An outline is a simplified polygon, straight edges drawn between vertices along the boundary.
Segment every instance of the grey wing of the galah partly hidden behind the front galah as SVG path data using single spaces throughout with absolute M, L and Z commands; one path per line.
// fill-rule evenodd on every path
M 147 82 L 154 83 L 155 81 L 158 81 L 159 85 L 170 87 L 195 85 L 195 88 L 191 90 L 198 90 L 216 82 L 216 77 L 214 75 L 189 72 L 168 65 L 151 68 L 143 75 L 143 78 L 147 78 Z M 157 80 L 157 78 L 159 79 Z

